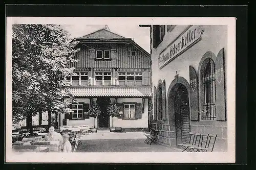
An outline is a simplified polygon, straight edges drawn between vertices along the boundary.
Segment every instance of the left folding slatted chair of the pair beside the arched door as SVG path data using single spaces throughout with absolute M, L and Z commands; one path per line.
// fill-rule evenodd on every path
M 180 143 L 178 146 L 180 146 L 183 151 L 190 152 L 192 148 L 190 147 L 199 147 L 200 140 L 201 139 L 201 133 L 195 133 L 195 132 L 189 132 L 189 141 L 188 143 Z

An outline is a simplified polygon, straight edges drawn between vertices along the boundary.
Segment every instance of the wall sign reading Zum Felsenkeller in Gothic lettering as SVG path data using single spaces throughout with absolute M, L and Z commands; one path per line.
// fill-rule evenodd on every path
M 180 36 L 171 42 L 160 54 L 158 67 L 161 69 L 168 62 L 184 53 L 189 47 L 202 39 L 203 28 L 200 25 L 189 26 Z

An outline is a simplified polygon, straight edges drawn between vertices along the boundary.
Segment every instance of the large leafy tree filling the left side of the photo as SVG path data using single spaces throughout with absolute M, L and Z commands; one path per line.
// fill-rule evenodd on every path
M 74 69 L 68 64 L 77 61 L 77 43 L 59 25 L 13 25 L 13 123 L 27 118 L 32 133 L 32 116 L 39 111 L 48 111 L 49 120 L 51 113 L 71 111 L 66 77 Z

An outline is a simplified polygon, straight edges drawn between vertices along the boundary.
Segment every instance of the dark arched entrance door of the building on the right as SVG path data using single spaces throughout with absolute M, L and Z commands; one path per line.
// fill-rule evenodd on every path
M 177 144 L 189 142 L 189 104 L 188 92 L 180 85 L 175 94 L 175 127 Z

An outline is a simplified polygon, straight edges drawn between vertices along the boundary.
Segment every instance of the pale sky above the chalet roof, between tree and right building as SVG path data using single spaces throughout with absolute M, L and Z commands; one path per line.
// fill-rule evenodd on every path
M 71 34 L 72 38 L 82 37 L 93 33 L 97 30 L 105 28 L 105 25 L 63 25 L 63 27 Z M 150 53 L 150 28 L 139 27 L 138 25 L 108 25 L 111 32 L 116 33 L 125 38 L 132 38 L 145 51 Z

